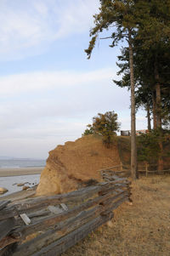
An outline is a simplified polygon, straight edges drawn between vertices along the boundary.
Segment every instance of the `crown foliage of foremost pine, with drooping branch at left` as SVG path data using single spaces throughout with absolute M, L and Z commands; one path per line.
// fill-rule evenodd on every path
M 96 44 L 96 40 L 99 37 L 99 33 L 103 31 L 108 31 L 111 28 L 111 36 L 106 38 L 111 38 L 111 47 L 115 47 L 118 42 L 122 41 L 124 38 L 129 39 L 128 32 L 130 31 L 131 36 L 136 28 L 135 17 L 135 1 L 133 0 L 100 0 L 99 14 L 94 14 L 94 28 L 90 31 L 91 40 L 89 46 L 85 49 L 86 54 L 88 54 L 88 59 L 93 52 Z M 112 27 L 114 29 L 112 29 Z

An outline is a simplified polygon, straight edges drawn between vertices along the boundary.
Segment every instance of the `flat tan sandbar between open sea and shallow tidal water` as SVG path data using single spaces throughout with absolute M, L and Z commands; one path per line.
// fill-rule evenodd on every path
M 41 174 L 44 167 L 0 168 L 0 177 Z

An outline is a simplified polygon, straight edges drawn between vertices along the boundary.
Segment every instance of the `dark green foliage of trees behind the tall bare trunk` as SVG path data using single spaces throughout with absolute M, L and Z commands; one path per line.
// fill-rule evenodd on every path
M 136 109 L 143 107 L 145 110 L 150 108 L 150 113 L 154 112 L 154 102 L 156 99 L 156 83 L 161 85 L 160 107 L 155 105 L 156 115 L 161 116 L 163 128 L 170 127 L 170 52 L 167 42 L 157 45 L 150 45 L 150 50 L 144 48 L 144 43 L 138 38 L 133 39 L 133 71 L 135 81 L 135 102 Z M 144 41 L 145 42 L 145 41 Z M 122 55 L 118 56 L 117 63 L 119 71 L 117 75 L 122 75 L 120 81 L 113 81 L 122 88 L 130 88 L 130 71 L 128 68 L 128 51 L 122 49 Z M 157 76 L 156 76 L 157 65 Z M 157 78 L 158 77 L 158 78 Z M 159 110 L 158 110 L 159 108 Z

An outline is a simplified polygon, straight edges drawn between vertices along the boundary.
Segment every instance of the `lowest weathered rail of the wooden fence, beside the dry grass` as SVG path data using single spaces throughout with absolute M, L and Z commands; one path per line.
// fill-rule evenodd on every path
M 71 232 L 67 236 L 60 238 L 57 242 L 53 242 L 48 247 L 42 248 L 38 253 L 34 253 L 32 256 L 57 256 L 60 253 L 64 253 L 69 247 L 72 247 L 77 242 L 81 241 L 90 232 L 94 231 L 100 225 L 113 218 L 113 213 L 108 214 L 104 217 L 98 217 L 88 222 L 86 225 L 82 225 L 79 229 Z

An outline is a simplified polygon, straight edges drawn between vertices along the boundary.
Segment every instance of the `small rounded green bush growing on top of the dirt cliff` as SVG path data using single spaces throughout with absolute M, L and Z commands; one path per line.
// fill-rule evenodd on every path
M 88 124 L 88 128 L 82 135 L 99 134 L 102 136 L 104 144 L 110 147 L 119 128 L 120 123 L 117 122 L 117 114 L 115 111 L 108 111 L 105 114 L 99 113 L 98 116 L 93 117 L 93 124 Z

